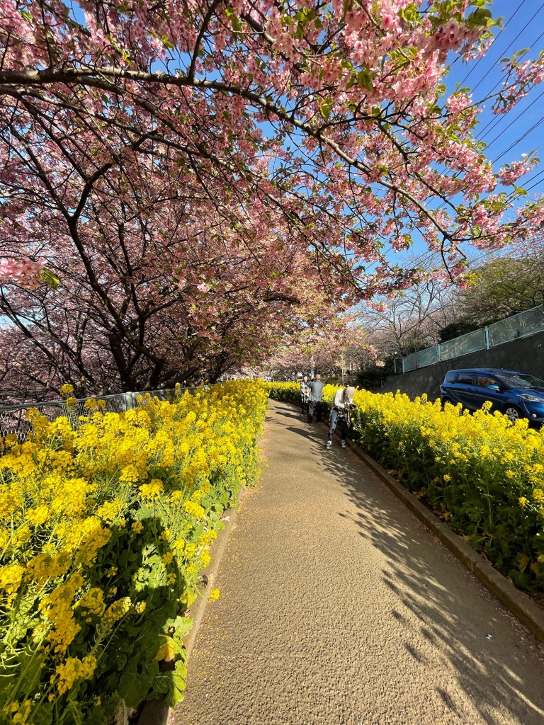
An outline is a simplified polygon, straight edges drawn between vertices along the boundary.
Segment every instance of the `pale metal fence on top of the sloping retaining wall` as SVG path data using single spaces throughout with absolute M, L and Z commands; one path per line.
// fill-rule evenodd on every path
M 544 331 L 544 305 L 403 357 L 403 373 Z

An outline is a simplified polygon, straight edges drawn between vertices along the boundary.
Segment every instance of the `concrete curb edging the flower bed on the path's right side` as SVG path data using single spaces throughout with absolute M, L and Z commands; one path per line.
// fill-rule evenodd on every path
M 516 616 L 524 626 L 535 635 L 540 642 L 544 642 L 544 610 L 533 602 L 524 592 L 514 587 L 506 576 L 503 576 L 497 569 L 493 568 L 487 559 L 474 551 L 469 544 L 458 537 L 450 527 L 440 521 L 437 516 L 429 511 L 421 501 L 416 499 L 404 486 L 401 486 L 387 471 L 382 468 L 379 463 L 367 455 L 365 452 L 348 439 L 348 446 L 353 450 L 363 463 L 371 468 L 379 479 L 395 496 L 400 499 L 413 514 L 419 518 L 421 523 L 430 529 L 432 533 L 440 539 L 442 544 L 448 547 L 458 560 L 460 560 L 466 568 L 477 576 L 489 591 L 497 597 L 497 599 Z

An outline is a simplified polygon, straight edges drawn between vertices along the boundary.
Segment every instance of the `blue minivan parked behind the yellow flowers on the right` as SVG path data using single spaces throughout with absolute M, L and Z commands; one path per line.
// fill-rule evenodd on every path
M 450 370 L 440 386 L 440 399 L 442 403 L 461 403 L 469 410 L 477 410 L 490 400 L 491 410 L 500 410 L 511 421 L 544 421 L 544 380 L 519 370 Z

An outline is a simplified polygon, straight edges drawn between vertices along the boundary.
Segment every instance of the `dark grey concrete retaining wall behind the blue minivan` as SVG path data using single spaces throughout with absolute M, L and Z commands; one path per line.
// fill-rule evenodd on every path
M 377 392 L 387 393 L 400 390 L 411 398 L 426 393 L 430 400 L 440 396 L 440 385 L 448 370 L 459 368 L 505 368 L 523 370 L 539 378 L 544 378 L 544 332 L 505 342 L 489 350 L 471 352 L 469 355 L 454 357 L 444 363 L 429 365 L 427 368 L 411 370 L 403 375 L 390 376 Z

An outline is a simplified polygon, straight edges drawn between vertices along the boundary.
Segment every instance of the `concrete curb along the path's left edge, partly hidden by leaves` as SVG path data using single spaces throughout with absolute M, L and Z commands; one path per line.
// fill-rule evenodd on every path
M 225 528 L 218 531 L 217 539 L 215 539 L 215 542 L 213 542 L 210 548 L 210 563 L 205 570 L 202 570 L 202 573 L 205 572 L 206 577 L 205 589 L 202 591 L 202 595 L 197 597 L 187 610 L 187 613 L 193 620 L 191 631 L 184 637 L 187 660 L 189 660 L 189 656 L 194 647 L 194 641 L 197 639 L 198 629 L 202 623 L 207 605 L 207 595 L 210 593 L 210 589 L 213 589 L 213 583 L 221 564 L 223 552 L 225 551 L 228 534 L 231 532 L 236 514 L 240 508 L 240 503 L 242 502 L 242 494 L 245 490 L 240 489 L 236 505 L 233 508 L 227 509 L 225 511 L 226 515 L 223 515 L 221 519 L 225 523 Z M 137 725 L 167 725 L 171 714 L 172 708 L 168 707 L 163 700 L 148 700 L 144 705 L 144 709 L 141 711 Z

